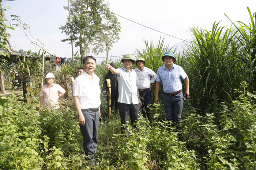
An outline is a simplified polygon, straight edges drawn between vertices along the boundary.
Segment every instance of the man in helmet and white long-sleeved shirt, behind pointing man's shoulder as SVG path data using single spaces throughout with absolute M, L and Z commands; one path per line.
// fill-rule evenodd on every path
M 145 60 L 143 58 L 138 58 L 136 60 L 136 65 L 138 68 L 135 68 L 135 72 L 137 74 L 138 80 L 139 80 L 139 95 L 140 95 L 140 101 L 142 101 L 142 115 L 148 119 L 150 119 L 150 110 L 147 107 L 148 104 L 151 104 L 151 91 L 150 87 L 151 84 L 155 82 L 155 79 L 157 79 L 157 74 L 150 68 L 144 67 L 146 64 Z M 152 78 L 150 78 L 152 77 Z

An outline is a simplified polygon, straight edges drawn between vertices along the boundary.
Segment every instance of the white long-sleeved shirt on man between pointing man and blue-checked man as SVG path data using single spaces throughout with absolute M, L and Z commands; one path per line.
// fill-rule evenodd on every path
M 139 68 L 135 68 L 134 70 L 139 80 L 139 89 L 150 88 L 150 83 L 154 83 L 155 79 L 157 79 L 157 74 L 150 68 L 144 67 L 142 71 Z M 152 78 L 150 79 L 150 77 Z

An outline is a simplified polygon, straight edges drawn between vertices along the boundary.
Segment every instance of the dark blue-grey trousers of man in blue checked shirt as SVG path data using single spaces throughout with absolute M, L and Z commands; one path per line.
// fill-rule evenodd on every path
M 183 93 L 176 96 L 163 94 L 163 107 L 165 108 L 166 119 L 173 123 L 181 123 L 181 113 L 183 109 Z

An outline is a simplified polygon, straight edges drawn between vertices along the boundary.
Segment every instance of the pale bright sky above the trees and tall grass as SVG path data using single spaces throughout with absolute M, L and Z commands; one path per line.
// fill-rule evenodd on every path
M 110 11 L 136 21 L 140 24 L 165 32 L 181 39 L 189 39 L 189 28 L 201 27 L 211 29 L 214 21 L 222 21 L 222 25 L 230 25 L 224 15 L 232 21 L 240 20 L 249 23 L 249 14 L 246 6 L 256 12 L 255 0 L 109 0 Z M 63 6 L 68 5 L 68 0 L 16 0 L 2 2 L 2 7 L 10 7 L 5 12 L 10 20 L 10 15 L 18 14 L 24 23 L 30 25 L 31 33 L 39 37 L 44 43 L 45 50 L 57 56 L 72 57 L 71 45 L 60 42 L 67 37 L 61 33 L 59 27 L 65 24 L 68 11 Z M 174 45 L 181 40 L 163 35 L 159 32 L 142 27 L 131 21 L 118 17 L 121 23 L 120 40 L 113 44 L 110 56 L 134 54 L 136 49 L 144 48 L 143 39 L 153 40 L 155 44 L 160 36 L 165 37 L 165 43 Z M 13 23 L 13 22 L 11 22 Z M 20 28 L 16 27 L 11 33 L 11 45 L 14 50 L 38 51 L 38 47 L 31 44 Z M 76 52 L 78 48 L 75 48 Z M 93 54 L 91 54 L 93 55 Z M 93 55 L 95 56 L 95 55 Z M 97 57 L 106 56 L 103 52 Z

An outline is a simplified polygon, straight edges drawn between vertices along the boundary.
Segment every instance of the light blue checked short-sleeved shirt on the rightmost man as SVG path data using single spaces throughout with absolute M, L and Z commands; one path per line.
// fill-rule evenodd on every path
M 183 68 L 174 63 L 170 71 L 165 65 L 157 70 L 157 82 L 163 83 L 163 91 L 166 93 L 175 93 L 181 90 L 182 84 L 180 78 L 184 80 L 187 76 Z

